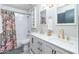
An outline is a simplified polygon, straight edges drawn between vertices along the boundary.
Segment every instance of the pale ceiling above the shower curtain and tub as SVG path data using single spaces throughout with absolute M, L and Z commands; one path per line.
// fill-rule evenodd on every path
M 4 4 L 5 6 L 21 9 L 21 10 L 28 10 L 35 6 L 35 4 Z

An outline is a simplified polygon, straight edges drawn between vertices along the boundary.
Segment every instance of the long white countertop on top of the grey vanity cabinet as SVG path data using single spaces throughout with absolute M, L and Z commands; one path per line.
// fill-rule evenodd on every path
M 51 44 L 54 44 L 72 53 L 78 53 L 78 38 L 73 37 L 70 38 L 69 40 L 65 40 L 58 38 L 57 34 L 53 34 L 52 36 L 47 36 L 45 34 L 40 34 L 40 33 L 31 33 L 31 35 L 36 36 L 42 40 L 45 40 Z

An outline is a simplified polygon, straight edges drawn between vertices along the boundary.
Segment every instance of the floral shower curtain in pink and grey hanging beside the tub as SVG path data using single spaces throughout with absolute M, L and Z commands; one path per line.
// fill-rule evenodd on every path
M 0 45 L 0 52 L 4 52 L 16 48 L 15 15 L 12 11 L 1 9 L 1 17 L 3 41 Z

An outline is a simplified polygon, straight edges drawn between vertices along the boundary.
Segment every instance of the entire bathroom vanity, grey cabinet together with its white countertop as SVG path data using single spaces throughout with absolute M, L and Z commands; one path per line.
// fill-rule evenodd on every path
M 76 38 L 69 40 L 58 38 L 57 34 L 31 33 L 30 47 L 34 54 L 77 54 L 78 41 Z

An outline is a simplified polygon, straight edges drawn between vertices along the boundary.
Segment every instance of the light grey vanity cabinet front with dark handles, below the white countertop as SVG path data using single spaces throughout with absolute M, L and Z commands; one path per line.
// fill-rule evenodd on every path
M 71 52 L 66 51 L 58 46 L 55 46 L 43 39 L 31 35 L 30 41 L 31 51 L 34 54 L 70 54 Z

